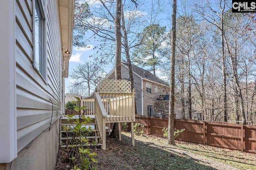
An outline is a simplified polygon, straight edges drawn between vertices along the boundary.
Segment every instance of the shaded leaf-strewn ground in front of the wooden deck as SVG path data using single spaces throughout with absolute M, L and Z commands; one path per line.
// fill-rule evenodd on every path
M 122 141 L 106 139 L 107 149 L 97 150 L 99 170 L 216 170 L 186 155 L 174 152 L 154 143 L 135 140 L 122 135 Z

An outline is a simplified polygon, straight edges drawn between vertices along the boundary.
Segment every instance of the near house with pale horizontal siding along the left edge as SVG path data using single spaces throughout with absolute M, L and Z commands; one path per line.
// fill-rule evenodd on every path
M 54 169 L 73 21 L 74 0 L 1 1 L 0 169 Z

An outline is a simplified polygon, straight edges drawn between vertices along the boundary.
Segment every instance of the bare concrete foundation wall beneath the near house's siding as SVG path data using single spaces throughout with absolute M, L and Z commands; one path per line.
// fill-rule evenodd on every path
M 21 150 L 18 157 L 11 163 L 0 164 L 0 170 L 54 170 L 59 148 L 59 125 L 58 119 L 30 146 Z

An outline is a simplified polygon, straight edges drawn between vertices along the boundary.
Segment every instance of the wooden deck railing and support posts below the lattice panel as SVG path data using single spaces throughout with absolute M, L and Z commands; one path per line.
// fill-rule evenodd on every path
M 117 90 L 116 90 L 117 91 Z M 110 129 L 110 123 L 118 123 L 119 140 L 121 141 L 121 123 L 135 122 L 135 93 L 134 92 L 94 92 L 94 99 L 82 99 L 81 105 L 86 106 L 84 115 L 95 115 L 97 129 L 102 141 L 102 149 L 106 149 L 106 129 Z M 108 127 L 108 128 L 106 128 Z M 108 130 L 110 135 L 110 130 Z M 132 131 L 132 145 L 134 132 Z

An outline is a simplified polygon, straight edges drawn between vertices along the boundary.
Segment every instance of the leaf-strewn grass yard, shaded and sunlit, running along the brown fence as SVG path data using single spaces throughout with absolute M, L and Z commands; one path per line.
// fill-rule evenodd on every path
M 182 141 L 176 141 L 177 146 L 174 147 L 166 145 L 166 139 L 164 138 L 147 135 L 142 137 L 135 136 L 135 147 L 132 147 L 130 136 L 130 133 L 122 132 L 122 141 L 107 138 L 107 149 L 97 150 L 97 169 L 229 170 L 239 168 L 243 170 L 256 170 L 255 154 L 241 153 L 239 151 L 220 149 Z M 182 154 L 183 151 L 184 154 Z M 192 156 L 191 154 L 186 153 L 192 153 Z

